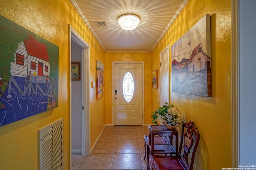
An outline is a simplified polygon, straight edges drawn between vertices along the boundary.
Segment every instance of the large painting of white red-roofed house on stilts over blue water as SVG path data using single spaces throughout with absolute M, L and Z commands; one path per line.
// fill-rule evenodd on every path
M 0 16 L 0 126 L 58 107 L 58 47 Z

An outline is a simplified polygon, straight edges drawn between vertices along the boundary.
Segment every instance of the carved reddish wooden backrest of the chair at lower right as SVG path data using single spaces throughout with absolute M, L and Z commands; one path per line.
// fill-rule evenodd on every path
M 186 130 L 186 131 L 185 131 Z M 198 147 L 200 134 L 193 121 L 185 122 L 182 124 L 182 133 L 180 139 L 180 148 L 179 148 L 179 159 L 184 167 L 187 167 L 189 170 L 193 169 L 194 159 L 196 154 L 196 149 Z M 196 139 L 194 141 L 194 138 Z M 183 153 L 182 153 L 183 148 Z M 191 159 L 188 162 L 188 155 L 191 152 Z M 187 169 L 186 168 L 186 169 Z

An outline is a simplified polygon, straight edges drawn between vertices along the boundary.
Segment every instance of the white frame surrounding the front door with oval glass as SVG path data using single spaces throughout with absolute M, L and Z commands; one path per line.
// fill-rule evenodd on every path
M 144 126 L 144 61 L 112 62 L 112 126 L 114 126 L 114 64 L 142 64 L 142 126 Z

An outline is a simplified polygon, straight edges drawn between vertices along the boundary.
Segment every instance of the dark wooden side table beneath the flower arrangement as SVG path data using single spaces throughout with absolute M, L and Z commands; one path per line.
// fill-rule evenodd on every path
M 178 156 L 178 133 L 177 129 L 169 130 L 164 125 L 148 125 L 149 154 L 170 154 L 170 156 L 175 154 Z M 168 138 L 169 142 L 154 143 L 156 135 Z M 173 136 L 175 136 L 175 145 L 172 142 Z

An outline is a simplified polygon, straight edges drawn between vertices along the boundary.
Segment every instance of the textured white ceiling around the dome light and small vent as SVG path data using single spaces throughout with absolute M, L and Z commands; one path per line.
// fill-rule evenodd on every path
M 70 0 L 106 52 L 152 51 L 188 0 Z M 118 25 L 118 17 L 140 17 L 132 31 Z M 108 27 L 98 27 L 106 21 Z

